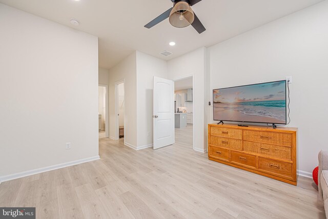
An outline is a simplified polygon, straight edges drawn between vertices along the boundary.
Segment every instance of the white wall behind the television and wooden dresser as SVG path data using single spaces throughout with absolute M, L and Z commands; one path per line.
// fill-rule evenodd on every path
M 305 172 L 327 149 L 327 11 L 324 1 L 208 49 L 211 89 L 293 76 L 289 126 L 299 128 L 297 168 Z

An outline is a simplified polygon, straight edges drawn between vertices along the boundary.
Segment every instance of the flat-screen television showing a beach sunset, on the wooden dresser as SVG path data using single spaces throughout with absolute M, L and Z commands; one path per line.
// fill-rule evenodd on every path
M 213 118 L 286 124 L 286 81 L 213 90 Z

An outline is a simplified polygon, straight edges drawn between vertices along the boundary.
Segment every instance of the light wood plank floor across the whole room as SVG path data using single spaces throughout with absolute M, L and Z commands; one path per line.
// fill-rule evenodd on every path
M 296 187 L 209 161 L 191 130 L 158 150 L 101 138 L 101 160 L 4 182 L 0 206 L 37 218 L 325 218 L 310 178 Z

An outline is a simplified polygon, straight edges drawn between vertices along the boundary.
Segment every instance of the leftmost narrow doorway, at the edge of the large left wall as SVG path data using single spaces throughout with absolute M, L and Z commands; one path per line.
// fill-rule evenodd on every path
M 99 138 L 108 137 L 107 85 L 98 86 L 98 132 Z

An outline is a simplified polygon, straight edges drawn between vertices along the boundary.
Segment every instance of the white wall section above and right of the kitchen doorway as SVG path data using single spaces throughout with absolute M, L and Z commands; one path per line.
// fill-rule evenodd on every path
M 185 55 L 168 61 L 168 78 L 176 80 L 179 78 L 194 76 L 193 86 L 193 132 L 194 149 L 201 152 L 207 151 L 207 132 L 204 131 L 204 124 L 207 111 L 205 103 L 207 71 L 206 71 L 206 48 L 202 47 Z M 201 133 L 201 134 L 199 134 Z

